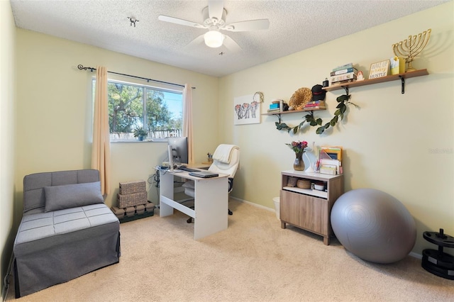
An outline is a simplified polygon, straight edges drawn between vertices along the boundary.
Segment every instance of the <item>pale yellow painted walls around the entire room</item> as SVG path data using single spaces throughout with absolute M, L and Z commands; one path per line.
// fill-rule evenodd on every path
M 285 142 L 302 139 L 316 145 L 343 145 L 345 190 L 372 187 L 397 197 L 416 219 L 418 241 L 414 252 L 433 248 L 422 240 L 424 230 L 444 228 L 445 233 L 454 233 L 452 11 L 450 2 L 216 79 L 15 30 L 9 1 L 0 1 L 2 278 L 21 218 L 23 176 L 90 166 L 93 74 L 79 71 L 78 64 L 104 65 L 116 72 L 196 86 L 196 161 L 204 160 L 206 152 L 213 152 L 219 142 L 239 145 L 241 164 L 232 195 L 260 206 L 273 208 L 272 197 L 279 195 L 279 172 L 292 167 L 293 154 Z M 414 65 L 427 68 L 430 74 L 408 79 L 406 94 L 400 94 L 399 81 L 350 89 L 352 101 L 361 108 L 350 108 L 345 123 L 326 135 L 305 128 L 292 137 L 275 129 L 274 116 L 262 116 L 260 124 L 233 125 L 235 96 L 262 91 L 265 112 L 271 99 L 288 100 L 301 86 L 310 88 L 323 81 L 337 65 L 354 62 L 367 72 L 370 63 L 392 56 L 392 43 L 427 28 L 433 30 L 431 41 Z M 328 110 L 316 116 L 328 121 L 336 97 L 342 93 L 329 92 Z M 218 102 L 213 101 L 216 99 Z M 301 116 L 284 116 L 284 122 L 296 125 Z M 165 143 L 112 143 L 111 152 L 112 187 L 116 189 L 119 181 L 148 179 L 155 164 L 165 157 Z M 113 191 L 108 196 L 109 206 L 115 203 L 115 194 Z M 149 198 L 156 200 L 153 189 Z

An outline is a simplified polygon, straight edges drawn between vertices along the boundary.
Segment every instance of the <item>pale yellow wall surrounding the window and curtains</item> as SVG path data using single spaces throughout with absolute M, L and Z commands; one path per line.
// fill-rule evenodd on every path
M 193 89 L 196 160 L 218 144 L 216 112 L 218 79 L 188 70 L 121 55 L 30 30 L 17 30 L 18 116 L 16 143 L 16 203 L 21 204 L 26 174 L 89 168 L 91 164 L 92 84 L 95 73 L 77 65 L 177 84 Z M 119 77 L 116 77 L 120 79 Z M 138 80 L 123 77 L 124 81 Z M 146 82 L 141 82 L 146 84 Z M 209 139 L 206 139 L 209 138 Z M 106 204 L 116 205 L 118 182 L 147 180 L 165 160 L 166 142 L 111 143 L 111 187 Z M 149 198 L 157 201 L 156 189 Z

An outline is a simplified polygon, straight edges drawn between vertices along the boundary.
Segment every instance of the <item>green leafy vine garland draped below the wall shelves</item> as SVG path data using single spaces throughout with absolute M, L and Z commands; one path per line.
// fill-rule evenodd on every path
M 345 113 L 345 111 L 347 111 L 348 105 L 351 104 L 351 105 L 355 106 L 356 108 L 358 108 L 358 105 L 350 102 L 350 94 L 343 94 L 341 96 L 338 96 L 336 101 L 338 102 L 338 106 L 336 106 L 337 110 L 336 110 L 336 112 L 334 112 L 334 116 L 333 116 L 333 118 L 331 118 L 331 121 L 329 121 L 329 123 L 326 123 L 325 125 L 322 125 L 323 121 L 321 120 L 321 118 L 316 119 L 314 117 L 314 112 L 310 111 L 308 114 L 306 114 L 306 116 L 304 116 L 304 120 L 301 123 L 299 123 L 299 125 L 290 127 L 286 123 L 276 122 L 275 123 L 276 129 L 277 130 L 287 130 L 288 133 L 291 130 L 293 130 L 293 133 L 296 134 L 303 127 L 304 123 L 309 123 L 309 125 L 311 125 L 313 127 L 319 125 L 320 127 L 317 128 L 316 133 L 322 134 L 326 129 L 330 128 L 330 126 L 334 127 L 336 125 L 336 123 L 338 123 L 339 117 L 341 117 L 341 121 L 343 120 L 344 113 Z

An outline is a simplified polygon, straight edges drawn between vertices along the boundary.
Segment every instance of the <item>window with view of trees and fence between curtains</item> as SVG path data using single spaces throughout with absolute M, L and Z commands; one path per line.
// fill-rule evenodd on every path
M 93 91 L 94 85 L 95 79 Z M 134 130 L 138 128 L 148 133 L 145 139 L 182 135 L 182 91 L 109 79 L 107 94 L 111 141 L 136 140 Z

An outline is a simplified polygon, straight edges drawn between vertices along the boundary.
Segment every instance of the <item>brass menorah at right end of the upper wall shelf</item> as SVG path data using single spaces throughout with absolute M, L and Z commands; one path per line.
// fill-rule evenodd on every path
M 392 45 L 394 55 L 405 57 L 405 62 L 409 63 L 409 67 L 406 69 L 407 72 L 416 70 L 411 67 L 411 62 L 426 47 L 428 38 L 431 37 L 431 31 L 431 28 L 429 28 L 418 35 L 409 35 L 409 38 Z

